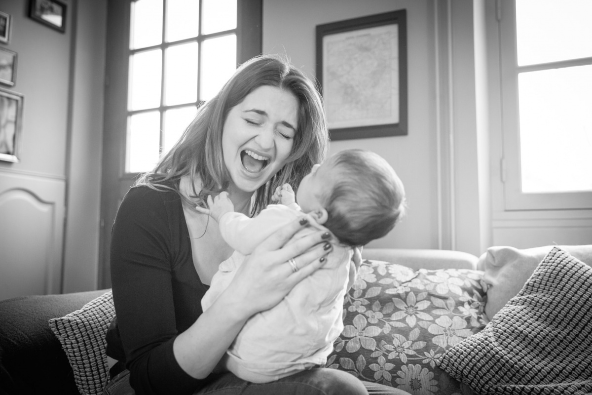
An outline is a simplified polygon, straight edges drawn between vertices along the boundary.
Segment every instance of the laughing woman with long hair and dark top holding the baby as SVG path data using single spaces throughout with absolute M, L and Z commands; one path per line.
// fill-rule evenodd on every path
M 278 57 L 244 63 L 200 108 L 179 142 L 131 188 L 115 219 L 117 323 L 107 336 L 108 354 L 120 361 L 116 366 L 125 360 L 129 372 L 112 378 L 106 393 L 133 393 L 129 384 L 137 394 L 367 393 L 352 375 L 324 368 L 268 384 L 213 373 L 250 316 L 275 306 L 326 261 L 329 233 L 291 240 L 305 220 L 261 243 L 227 291 L 201 310 L 212 276 L 233 251 L 195 206 L 227 191 L 236 211 L 256 215 L 278 185 L 298 185 L 324 159 L 327 142 L 314 85 Z

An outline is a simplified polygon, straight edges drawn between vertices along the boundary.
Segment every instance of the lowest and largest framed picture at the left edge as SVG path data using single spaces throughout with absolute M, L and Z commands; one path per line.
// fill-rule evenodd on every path
M 0 160 L 20 162 L 22 95 L 0 89 Z

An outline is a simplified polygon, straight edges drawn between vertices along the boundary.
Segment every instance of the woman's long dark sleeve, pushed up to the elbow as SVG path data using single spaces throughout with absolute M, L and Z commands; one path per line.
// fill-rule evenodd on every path
M 171 279 L 172 237 L 162 192 L 132 188 L 111 237 L 117 326 L 136 394 L 191 394 L 203 385 L 173 354 L 178 335 Z

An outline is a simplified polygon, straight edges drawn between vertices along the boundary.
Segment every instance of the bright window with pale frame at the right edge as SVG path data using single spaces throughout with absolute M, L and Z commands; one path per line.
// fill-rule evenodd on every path
M 592 2 L 498 6 L 506 209 L 592 208 Z

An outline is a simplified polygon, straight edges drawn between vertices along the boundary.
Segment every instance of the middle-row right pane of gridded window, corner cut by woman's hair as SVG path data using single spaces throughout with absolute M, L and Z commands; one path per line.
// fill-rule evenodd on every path
M 200 98 L 208 100 L 218 93 L 236 70 L 236 36 L 213 38 L 202 44 Z

